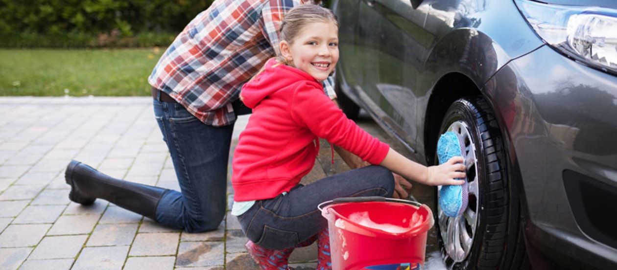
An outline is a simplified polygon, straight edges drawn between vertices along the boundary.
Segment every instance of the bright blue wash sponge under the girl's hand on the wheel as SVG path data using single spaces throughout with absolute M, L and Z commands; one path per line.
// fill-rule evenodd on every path
M 450 158 L 462 156 L 465 159 L 465 139 L 452 131 L 441 134 L 437 142 L 437 158 L 439 164 Z M 468 188 L 467 179 L 461 186 L 441 186 L 439 189 L 439 207 L 446 216 L 460 216 L 467 208 Z

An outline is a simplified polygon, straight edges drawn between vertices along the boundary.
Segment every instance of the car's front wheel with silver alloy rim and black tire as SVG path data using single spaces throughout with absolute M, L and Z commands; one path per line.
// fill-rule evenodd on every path
M 528 268 L 520 203 L 509 181 L 510 163 L 491 107 L 482 97 L 456 100 L 445 113 L 438 134 L 445 131 L 465 138 L 469 186 L 468 207 L 461 216 L 450 218 L 437 207 L 437 242 L 447 268 Z M 438 195 L 439 187 L 436 205 Z

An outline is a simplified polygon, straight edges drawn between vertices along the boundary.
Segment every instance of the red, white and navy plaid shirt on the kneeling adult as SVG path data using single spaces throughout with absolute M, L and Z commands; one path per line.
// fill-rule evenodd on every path
M 230 125 L 242 84 L 275 56 L 283 14 L 310 0 L 217 0 L 176 37 L 148 82 L 202 122 Z M 335 98 L 332 81 L 324 81 Z

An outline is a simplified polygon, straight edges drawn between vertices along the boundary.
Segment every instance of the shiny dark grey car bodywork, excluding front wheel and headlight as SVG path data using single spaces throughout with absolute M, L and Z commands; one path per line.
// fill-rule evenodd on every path
M 507 144 L 531 260 L 617 269 L 616 233 L 606 227 L 614 215 L 589 210 L 591 195 L 573 195 L 577 186 L 566 177 L 579 174 L 608 190 L 597 202 L 617 198 L 610 197 L 617 190 L 615 75 L 546 45 L 513 1 L 336 0 L 333 7 L 342 91 L 407 144 L 413 159 L 434 160 L 433 126 L 449 102 L 485 97 Z

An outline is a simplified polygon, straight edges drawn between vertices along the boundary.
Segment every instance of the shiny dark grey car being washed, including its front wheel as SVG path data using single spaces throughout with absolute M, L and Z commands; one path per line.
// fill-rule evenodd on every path
M 335 0 L 336 80 L 427 165 L 466 139 L 452 269 L 617 269 L 617 1 Z M 359 106 L 359 107 L 358 107 Z

